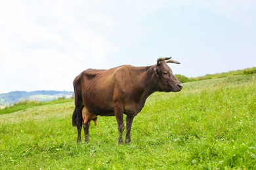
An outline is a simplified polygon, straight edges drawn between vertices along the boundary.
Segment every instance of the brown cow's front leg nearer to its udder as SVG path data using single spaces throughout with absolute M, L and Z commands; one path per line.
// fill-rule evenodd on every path
M 117 128 L 119 131 L 118 144 L 123 143 L 123 130 L 125 129 L 125 124 L 123 124 L 123 109 L 118 105 L 115 106 L 115 115 L 117 121 Z

